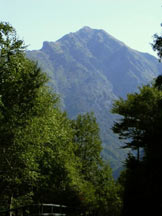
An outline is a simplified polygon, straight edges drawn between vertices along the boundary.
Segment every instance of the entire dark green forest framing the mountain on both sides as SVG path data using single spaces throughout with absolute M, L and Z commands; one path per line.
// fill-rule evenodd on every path
M 153 48 L 162 57 L 162 38 Z M 120 98 L 113 131 L 130 153 L 115 181 L 93 113 L 69 119 L 15 29 L 0 23 L 0 211 L 56 203 L 85 215 L 156 215 L 162 204 L 162 76 Z

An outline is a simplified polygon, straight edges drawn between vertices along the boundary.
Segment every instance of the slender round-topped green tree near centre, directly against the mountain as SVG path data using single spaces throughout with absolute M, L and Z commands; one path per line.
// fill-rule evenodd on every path
M 81 174 L 86 180 L 93 176 L 93 170 L 101 165 L 101 139 L 99 127 L 93 113 L 78 115 L 72 120 L 74 131 L 75 155 L 80 158 Z

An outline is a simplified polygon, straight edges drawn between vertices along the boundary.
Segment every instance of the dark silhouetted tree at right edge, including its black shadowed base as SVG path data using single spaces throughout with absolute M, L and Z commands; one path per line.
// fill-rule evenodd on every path
M 158 82 L 159 78 L 113 105 L 112 112 L 122 116 L 113 131 L 126 140 L 126 148 L 137 150 L 126 160 L 124 215 L 132 214 L 134 208 L 134 214 L 160 210 L 162 91 Z

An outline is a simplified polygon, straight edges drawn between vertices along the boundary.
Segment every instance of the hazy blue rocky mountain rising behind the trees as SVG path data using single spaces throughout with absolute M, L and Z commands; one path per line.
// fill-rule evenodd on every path
M 30 59 L 51 78 L 50 85 L 62 99 L 70 118 L 93 111 L 100 125 L 103 157 L 118 170 L 125 152 L 111 131 L 117 118 L 110 113 L 112 102 L 162 73 L 162 65 L 147 53 L 126 46 L 103 30 L 84 27 L 56 42 L 43 43 L 28 51 Z

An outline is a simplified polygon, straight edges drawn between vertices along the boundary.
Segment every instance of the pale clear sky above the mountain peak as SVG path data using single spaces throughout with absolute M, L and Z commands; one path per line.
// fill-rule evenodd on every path
M 89 26 L 155 55 L 150 44 L 162 32 L 162 0 L 0 0 L 0 21 L 9 22 L 29 50 Z

